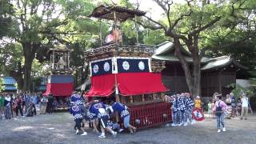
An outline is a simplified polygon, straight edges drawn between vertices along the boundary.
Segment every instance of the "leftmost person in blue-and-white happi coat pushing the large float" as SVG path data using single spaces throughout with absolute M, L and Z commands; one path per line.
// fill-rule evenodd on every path
M 82 129 L 82 111 L 79 109 L 78 103 L 74 102 L 74 106 L 70 108 L 70 114 L 73 114 L 74 116 L 74 122 L 75 122 L 75 129 L 76 134 L 78 134 L 79 130 L 82 130 L 81 135 L 86 135 L 86 131 Z

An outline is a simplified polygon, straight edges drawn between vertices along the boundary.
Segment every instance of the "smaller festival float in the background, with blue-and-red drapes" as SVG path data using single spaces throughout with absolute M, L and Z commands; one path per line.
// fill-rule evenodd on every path
M 47 74 L 46 92 L 42 95 L 54 96 L 57 103 L 57 110 L 67 109 L 67 102 L 73 93 L 74 76 L 70 69 L 70 53 L 62 44 L 50 48 L 47 54 L 50 55 L 50 72 Z

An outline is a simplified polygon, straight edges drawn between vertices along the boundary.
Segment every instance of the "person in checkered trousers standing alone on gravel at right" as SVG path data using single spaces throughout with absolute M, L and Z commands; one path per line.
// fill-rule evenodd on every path
M 218 133 L 221 132 L 221 126 L 222 126 L 222 131 L 226 131 L 226 128 L 224 126 L 224 118 L 223 118 L 223 113 L 226 110 L 226 103 L 223 102 L 221 98 L 222 98 L 221 94 L 216 95 L 216 102 L 213 109 L 217 119 Z

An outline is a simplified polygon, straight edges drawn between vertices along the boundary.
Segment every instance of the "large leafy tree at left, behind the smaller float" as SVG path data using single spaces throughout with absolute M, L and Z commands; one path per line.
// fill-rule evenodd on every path
M 15 7 L 12 28 L 15 34 L 12 38 L 21 44 L 24 56 L 24 64 L 19 65 L 22 73 L 13 71 L 13 75 L 23 76 L 22 89 L 30 90 L 34 58 L 43 62 L 46 59 L 41 54 L 45 54 L 54 42 L 70 44 L 81 40 L 82 36 L 78 38 L 76 35 L 86 35 L 88 31 L 95 30 L 85 18 L 93 5 L 82 0 L 18 0 L 11 4 Z

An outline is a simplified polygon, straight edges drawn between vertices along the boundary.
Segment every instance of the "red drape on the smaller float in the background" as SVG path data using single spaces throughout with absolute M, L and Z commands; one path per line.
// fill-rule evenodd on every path
M 73 92 L 73 83 L 47 83 L 46 92 L 43 95 L 70 96 Z

